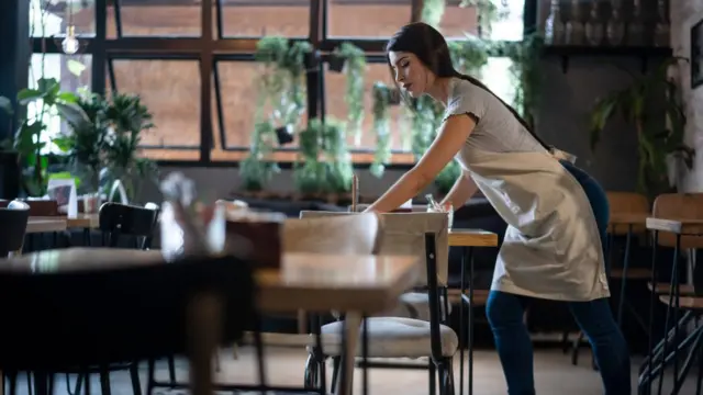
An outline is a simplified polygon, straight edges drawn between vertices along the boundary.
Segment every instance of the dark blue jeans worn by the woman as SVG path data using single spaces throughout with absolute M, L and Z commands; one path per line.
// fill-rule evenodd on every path
M 583 188 L 595 214 L 604 245 L 609 221 L 605 192 L 584 171 L 568 162 L 562 165 Z M 532 340 L 523 321 L 529 301 L 526 296 L 491 291 L 486 307 L 510 395 L 535 395 Z M 609 300 L 568 302 L 568 305 L 577 324 L 591 342 L 605 394 L 629 395 L 629 350 L 613 318 Z

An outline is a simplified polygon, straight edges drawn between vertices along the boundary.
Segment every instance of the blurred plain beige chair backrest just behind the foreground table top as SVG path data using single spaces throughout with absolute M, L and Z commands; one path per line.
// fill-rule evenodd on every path
M 377 253 L 381 242 L 381 221 L 377 214 L 320 217 L 314 211 L 283 223 L 284 252 L 344 255 Z

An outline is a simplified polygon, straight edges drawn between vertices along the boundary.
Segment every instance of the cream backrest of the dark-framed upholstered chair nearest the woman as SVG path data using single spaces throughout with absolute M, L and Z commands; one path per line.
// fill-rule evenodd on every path
M 305 212 L 310 217 L 361 215 L 348 212 Z M 425 235 L 433 234 L 437 250 L 437 284 L 446 285 L 449 266 L 448 216 L 446 213 L 388 213 L 382 222 L 379 255 L 416 256 L 426 261 Z M 427 285 L 426 268 L 419 268 L 419 285 Z

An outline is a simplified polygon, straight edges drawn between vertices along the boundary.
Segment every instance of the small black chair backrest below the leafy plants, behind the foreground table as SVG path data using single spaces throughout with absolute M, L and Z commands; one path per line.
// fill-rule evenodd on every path
M 118 245 L 120 236 L 134 236 L 144 238 L 144 248 L 154 234 L 158 215 L 159 206 L 155 203 L 147 203 L 144 207 L 103 203 L 99 213 L 100 230 L 108 235 L 110 247 Z

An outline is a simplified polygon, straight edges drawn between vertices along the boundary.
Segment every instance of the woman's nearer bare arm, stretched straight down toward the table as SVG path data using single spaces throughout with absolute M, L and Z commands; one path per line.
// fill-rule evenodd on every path
M 473 127 L 476 122 L 468 114 L 449 116 L 420 161 L 366 211 L 387 213 L 422 192 L 464 147 Z

